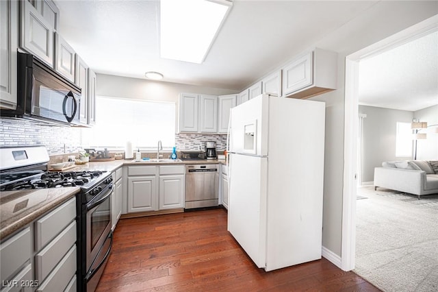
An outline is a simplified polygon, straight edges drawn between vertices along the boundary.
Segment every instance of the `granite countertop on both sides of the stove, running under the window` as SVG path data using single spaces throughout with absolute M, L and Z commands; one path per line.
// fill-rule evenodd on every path
M 179 160 L 133 162 L 133 160 L 112 160 L 105 162 L 88 162 L 76 165 L 65 171 L 115 171 L 123 165 L 226 165 L 226 160 Z M 60 206 L 70 197 L 79 193 L 79 187 L 41 188 L 37 190 L 4 191 L 0 195 L 0 239 L 5 239 L 38 219 L 44 213 Z

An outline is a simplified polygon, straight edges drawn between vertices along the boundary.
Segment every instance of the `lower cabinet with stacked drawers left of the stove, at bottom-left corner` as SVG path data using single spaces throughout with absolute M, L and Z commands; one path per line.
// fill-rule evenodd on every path
M 0 245 L 1 291 L 76 291 L 76 199 Z

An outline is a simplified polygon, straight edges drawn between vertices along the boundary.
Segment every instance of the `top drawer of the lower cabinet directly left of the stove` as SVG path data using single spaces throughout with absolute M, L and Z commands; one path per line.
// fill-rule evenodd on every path
M 35 247 L 38 252 L 76 218 L 76 198 L 57 207 L 35 222 Z

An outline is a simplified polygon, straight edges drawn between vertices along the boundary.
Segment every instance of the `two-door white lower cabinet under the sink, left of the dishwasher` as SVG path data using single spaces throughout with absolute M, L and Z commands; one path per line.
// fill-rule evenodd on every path
M 126 173 L 128 213 L 184 208 L 184 165 L 128 166 Z

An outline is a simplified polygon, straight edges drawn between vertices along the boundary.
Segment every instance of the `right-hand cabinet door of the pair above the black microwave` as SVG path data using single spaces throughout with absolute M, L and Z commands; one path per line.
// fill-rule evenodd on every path
M 55 70 L 71 82 L 75 82 L 75 50 L 55 33 Z

